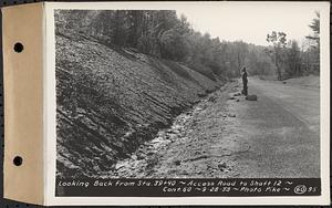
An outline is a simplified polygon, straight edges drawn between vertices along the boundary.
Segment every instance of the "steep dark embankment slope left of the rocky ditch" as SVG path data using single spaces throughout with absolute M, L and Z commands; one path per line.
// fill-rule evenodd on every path
M 97 177 L 218 83 L 175 62 L 56 34 L 58 177 Z

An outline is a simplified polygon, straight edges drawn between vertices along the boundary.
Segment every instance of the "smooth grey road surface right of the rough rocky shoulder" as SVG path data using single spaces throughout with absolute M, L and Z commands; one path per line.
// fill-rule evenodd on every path
M 258 102 L 232 105 L 250 150 L 238 157 L 241 177 L 319 177 L 319 89 L 250 80 Z

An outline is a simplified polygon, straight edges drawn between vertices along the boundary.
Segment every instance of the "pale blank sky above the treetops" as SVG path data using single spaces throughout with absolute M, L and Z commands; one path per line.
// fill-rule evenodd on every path
M 298 40 L 300 45 L 304 37 L 312 33 L 308 27 L 318 9 L 314 4 L 261 3 L 261 4 L 222 4 L 214 7 L 188 6 L 177 9 L 185 14 L 195 30 L 220 40 L 242 40 L 258 45 L 268 45 L 267 34 L 283 31 L 288 40 Z

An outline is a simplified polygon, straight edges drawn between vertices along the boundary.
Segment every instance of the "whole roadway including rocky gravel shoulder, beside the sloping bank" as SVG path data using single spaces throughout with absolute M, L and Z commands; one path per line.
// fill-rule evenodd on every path
M 249 80 L 225 85 L 118 162 L 112 177 L 319 177 L 319 90 Z M 236 95 L 236 96 L 235 96 Z

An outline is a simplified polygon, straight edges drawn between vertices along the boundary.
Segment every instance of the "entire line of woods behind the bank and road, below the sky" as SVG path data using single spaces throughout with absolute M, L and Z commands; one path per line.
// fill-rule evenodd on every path
M 181 62 L 217 80 L 237 77 L 242 66 L 250 75 L 286 76 L 319 73 L 319 29 L 308 37 L 308 46 L 295 41 L 280 42 L 280 33 L 268 35 L 271 46 L 242 41 L 220 41 L 195 31 L 185 15 L 173 10 L 58 10 L 56 33 L 97 40 L 112 48 L 132 48 L 158 59 Z M 270 38 L 269 38 L 270 37 Z M 222 38 L 222 37 L 221 37 Z M 286 38 L 286 34 L 284 34 Z M 313 44 L 315 42 L 317 44 Z

